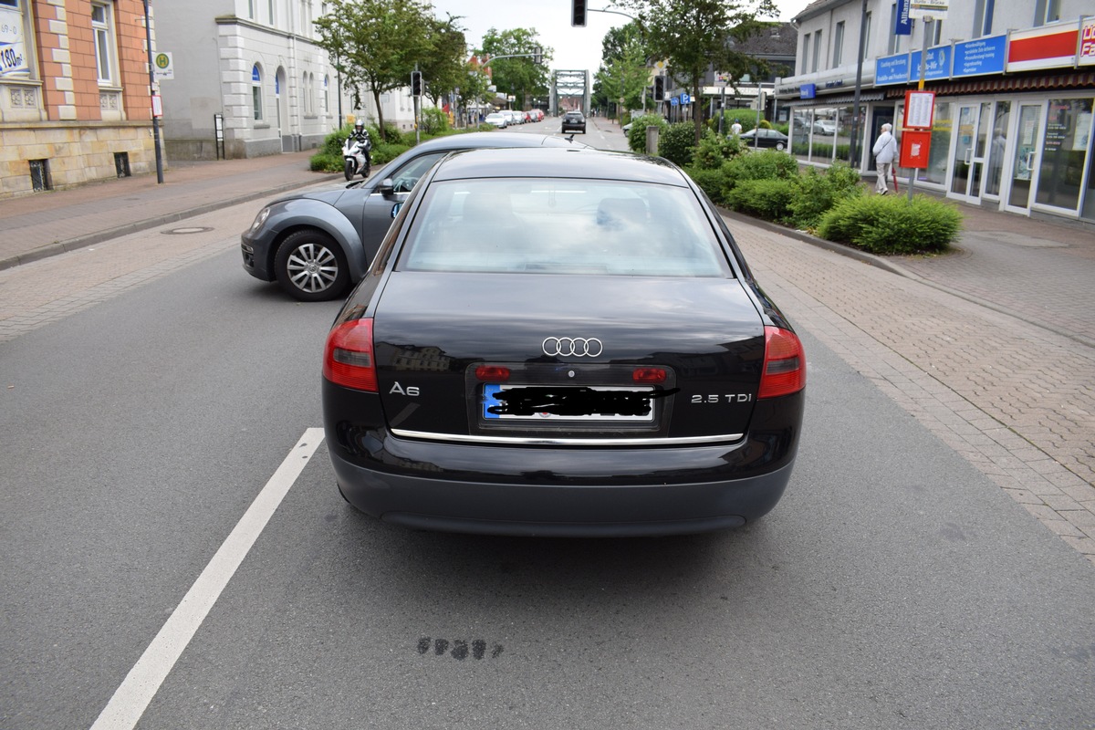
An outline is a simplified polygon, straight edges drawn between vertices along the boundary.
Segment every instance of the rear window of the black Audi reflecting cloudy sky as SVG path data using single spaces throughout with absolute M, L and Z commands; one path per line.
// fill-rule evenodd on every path
M 689 188 L 600 179 L 435 182 L 399 268 L 733 276 Z

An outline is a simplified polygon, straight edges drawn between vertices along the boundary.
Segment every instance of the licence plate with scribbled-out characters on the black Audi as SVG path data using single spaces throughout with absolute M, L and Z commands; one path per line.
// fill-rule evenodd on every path
M 650 422 L 653 396 L 653 387 L 487 383 L 483 386 L 483 418 Z

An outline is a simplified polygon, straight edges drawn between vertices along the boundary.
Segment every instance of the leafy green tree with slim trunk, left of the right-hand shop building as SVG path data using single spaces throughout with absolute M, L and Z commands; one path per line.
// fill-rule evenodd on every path
M 683 79 L 692 97 L 701 99 L 701 84 L 712 67 L 728 72 L 731 79 L 746 73 L 761 73 L 764 63 L 735 50 L 731 40 L 746 40 L 768 23 L 760 18 L 776 18 L 772 0 L 621 0 L 638 11 L 646 30 L 649 50 L 669 61 L 675 77 Z M 703 134 L 700 104 L 692 105 L 695 143 Z

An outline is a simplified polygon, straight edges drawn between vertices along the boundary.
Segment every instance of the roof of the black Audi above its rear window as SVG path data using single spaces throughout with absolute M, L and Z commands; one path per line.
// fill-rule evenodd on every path
M 435 181 L 470 177 L 584 177 L 687 187 L 677 165 L 631 152 L 585 149 L 477 149 L 441 160 Z

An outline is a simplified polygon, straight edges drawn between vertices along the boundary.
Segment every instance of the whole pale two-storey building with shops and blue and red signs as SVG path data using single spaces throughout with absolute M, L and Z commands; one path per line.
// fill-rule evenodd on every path
M 793 111 L 793 153 L 815 165 L 854 155 L 869 174 L 881 125 L 903 141 L 906 93 L 923 79 L 934 94 L 924 166 L 899 169 L 902 184 L 912 175 L 914 188 L 956 200 L 1095 223 L 1095 7 L 948 4 L 931 21 L 902 16 L 904 3 L 890 0 L 867 0 L 865 12 L 862 0 L 807 5 L 794 20 L 796 73 L 776 83 Z

